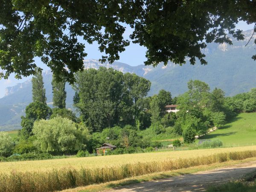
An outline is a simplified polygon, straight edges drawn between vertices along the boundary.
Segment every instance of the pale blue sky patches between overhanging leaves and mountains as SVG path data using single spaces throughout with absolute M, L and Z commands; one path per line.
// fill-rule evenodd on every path
M 253 29 L 253 26 L 254 24 L 247 25 L 245 22 L 239 22 L 236 27 L 237 29 L 242 29 L 245 31 L 248 29 Z M 126 26 L 126 31 L 123 35 L 124 38 L 128 39 L 131 32 L 132 29 L 129 26 Z M 84 59 L 99 59 L 102 56 L 102 53 L 98 49 L 97 43 L 85 43 L 85 52 L 87 52 L 87 57 Z M 145 52 L 145 47 L 142 47 L 139 44 L 133 44 L 131 42 L 130 45 L 125 48 L 125 51 L 119 54 L 120 59 L 118 61 L 129 64 L 131 66 L 137 66 L 143 64 L 143 62 L 146 61 Z M 41 62 L 40 58 L 35 58 L 35 63 L 43 70 L 49 70 L 49 68 Z M 5 95 L 6 87 L 12 87 L 17 83 L 22 83 L 30 78 L 31 76 L 24 77 L 23 79 L 15 79 L 14 74 L 12 74 L 9 79 L 0 79 L 0 98 Z

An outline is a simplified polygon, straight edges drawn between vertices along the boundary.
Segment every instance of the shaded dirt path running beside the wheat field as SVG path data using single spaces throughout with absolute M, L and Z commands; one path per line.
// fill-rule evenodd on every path
M 253 171 L 256 171 L 256 161 L 191 175 L 137 183 L 105 192 L 200 192 L 205 191 L 209 185 L 239 179 Z

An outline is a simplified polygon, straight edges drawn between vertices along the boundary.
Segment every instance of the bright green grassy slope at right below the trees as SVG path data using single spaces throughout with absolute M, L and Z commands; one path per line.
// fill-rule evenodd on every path
M 200 139 L 219 139 L 225 146 L 256 145 L 256 113 L 240 113 L 224 127 Z

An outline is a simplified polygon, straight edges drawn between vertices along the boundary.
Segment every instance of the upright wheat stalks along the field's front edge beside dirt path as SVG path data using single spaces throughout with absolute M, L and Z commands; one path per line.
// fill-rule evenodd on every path
M 95 169 L 54 169 L 47 172 L 11 172 L 0 175 L 0 192 L 46 192 L 121 180 L 154 172 L 256 157 L 256 150 L 212 154 L 204 157 L 129 163 Z

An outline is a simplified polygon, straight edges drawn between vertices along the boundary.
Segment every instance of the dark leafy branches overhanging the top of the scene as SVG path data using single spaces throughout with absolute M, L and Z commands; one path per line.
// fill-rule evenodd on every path
M 147 48 L 146 65 L 207 64 L 206 43 L 232 44 L 228 34 L 241 40 L 239 20 L 255 23 L 252 0 L 90 0 L 0 1 L 0 77 L 29 76 L 36 56 L 53 73 L 73 81 L 83 69 L 87 43 L 97 42 L 101 61 L 119 59 L 130 41 Z M 133 32 L 124 39 L 125 26 Z M 256 31 L 256 28 L 254 28 Z M 256 40 L 255 40 L 256 42 Z M 256 55 L 253 56 L 256 59 Z

